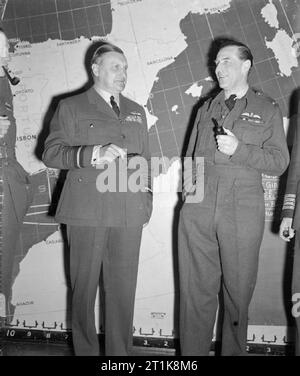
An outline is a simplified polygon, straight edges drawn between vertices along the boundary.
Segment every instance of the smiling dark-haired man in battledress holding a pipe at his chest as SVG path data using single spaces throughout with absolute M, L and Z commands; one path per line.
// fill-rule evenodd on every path
M 189 178 L 184 182 L 180 214 L 182 355 L 208 355 L 220 287 L 222 355 L 246 354 L 264 232 L 262 173 L 281 175 L 289 163 L 278 105 L 248 85 L 252 61 L 244 44 L 220 45 L 215 72 L 222 90 L 199 110 L 187 149 L 186 158 L 204 159 L 204 176 L 197 174 L 192 187 Z M 216 134 L 216 126 L 225 134 Z M 204 197 L 195 202 L 193 189 L 203 178 Z

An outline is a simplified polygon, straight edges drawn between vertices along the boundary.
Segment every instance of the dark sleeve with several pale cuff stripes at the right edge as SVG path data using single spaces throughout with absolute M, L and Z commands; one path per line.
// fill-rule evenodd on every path
M 284 201 L 282 206 L 282 213 L 281 217 L 288 217 L 293 218 L 295 206 L 296 206 L 296 198 L 297 198 L 297 190 L 300 180 L 300 129 L 299 129 L 300 121 L 299 115 L 297 119 L 297 126 L 295 128 L 294 134 L 294 143 L 292 148 L 291 154 L 291 163 L 288 170 L 288 178 L 286 183 Z

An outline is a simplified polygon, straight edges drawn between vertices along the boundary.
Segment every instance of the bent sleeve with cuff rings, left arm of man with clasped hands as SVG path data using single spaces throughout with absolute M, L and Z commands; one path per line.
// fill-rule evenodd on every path
M 75 144 L 76 121 L 74 109 L 67 102 L 60 102 L 50 124 L 42 157 L 47 167 L 70 170 L 91 166 L 94 145 Z

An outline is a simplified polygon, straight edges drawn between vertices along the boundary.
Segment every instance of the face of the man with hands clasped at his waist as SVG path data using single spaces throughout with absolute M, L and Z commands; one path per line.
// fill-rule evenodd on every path
M 127 82 L 127 60 L 118 52 L 106 52 L 99 63 L 93 64 L 95 82 L 111 94 L 121 93 Z

